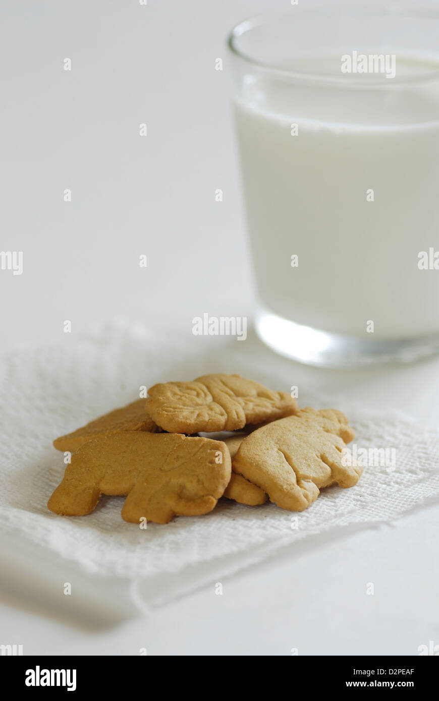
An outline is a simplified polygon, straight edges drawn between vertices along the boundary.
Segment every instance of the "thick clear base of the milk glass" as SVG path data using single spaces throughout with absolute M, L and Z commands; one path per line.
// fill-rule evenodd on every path
M 276 353 L 321 367 L 407 363 L 439 353 L 439 333 L 412 339 L 369 341 L 301 326 L 261 307 L 256 315 L 256 332 Z

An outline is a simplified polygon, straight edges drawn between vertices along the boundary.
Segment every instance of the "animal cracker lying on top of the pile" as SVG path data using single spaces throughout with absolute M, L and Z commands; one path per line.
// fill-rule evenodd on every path
M 170 433 L 234 431 L 248 423 L 294 414 L 295 399 L 239 375 L 203 375 L 194 382 L 167 382 L 148 392 L 147 411 Z

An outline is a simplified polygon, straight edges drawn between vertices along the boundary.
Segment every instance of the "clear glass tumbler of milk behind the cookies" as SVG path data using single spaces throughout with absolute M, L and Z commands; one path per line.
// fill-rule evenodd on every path
M 229 36 L 257 333 L 416 360 L 439 351 L 439 13 L 310 5 Z

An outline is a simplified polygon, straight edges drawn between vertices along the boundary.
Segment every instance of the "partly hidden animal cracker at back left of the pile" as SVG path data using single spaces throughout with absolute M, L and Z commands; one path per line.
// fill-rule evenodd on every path
M 114 409 L 73 433 L 55 438 L 53 445 L 57 450 L 73 453 L 81 445 L 93 438 L 109 436 L 119 431 L 148 431 L 154 433 L 157 426 L 147 414 L 147 400 L 138 399 L 121 409 Z

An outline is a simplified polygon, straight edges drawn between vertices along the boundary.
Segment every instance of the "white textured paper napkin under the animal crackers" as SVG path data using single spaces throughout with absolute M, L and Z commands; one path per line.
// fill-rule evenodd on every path
M 1 365 L 1 531 L 88 573 L 127 578 L 135 599 L 173 598 L 260 562 L 295 540 L 398 517 L 439 495 L 439 436 L 433 429 L 403 415 L 301 395 L 299 406 L 334 404 L 345 411 L 358 447 L 396 449 L 396 470 L 365 468 L 357 486 L 323 490 L 300 514 L 271 503 L 248 507 L 224 498 L 208 515 L 140 529 L 121 519 L 123 498 L 102 496 L 88 516 L 55 515 L 46 503 L 65 465 L 53 438 L 135 400 L 141 386 L 238 372 L 274 390 L 290 389 L 290 378 L 285 381 L 258 360 L 251 340 L 207 348 L 190 333 L 176 336 L 123 324 L 79 341 L 64 335 L 58 346 L 25 348 Z

